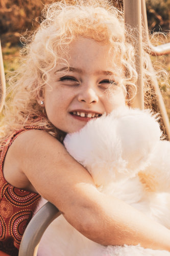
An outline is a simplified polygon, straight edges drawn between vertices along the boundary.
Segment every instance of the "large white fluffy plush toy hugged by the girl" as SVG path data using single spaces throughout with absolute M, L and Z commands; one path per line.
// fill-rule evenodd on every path
M 150 111 L 118 109 L 68 134 L 64 145 L 100 191 L 170 228 L 170 142 L 162 141 Z M 102 246 L 60 216 L 46 229 L 39 256 L 169 256 L 138 246 Z

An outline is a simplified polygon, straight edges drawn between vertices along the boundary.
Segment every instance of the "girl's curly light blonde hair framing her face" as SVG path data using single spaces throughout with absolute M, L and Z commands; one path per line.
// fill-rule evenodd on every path
M 9 78 L 10 97 L 1 123 L 1 142 L 9 133 L 25 125 L 43 126 L 48 133 L 62 140 L 64 134 L 47 119 L 44 108 L 37 102 L 37 94 L 43 93 L 49 72 L 58 63 L 66 63 L 64 53 L 80 36 L 109 44 L 114 49 L 124 70 L 122 82 L 127 98 L 134 96 L 137 80 L 135 53 L 132 36 L 124 27 L 123 13 L 107 0 L 77 0 L 74 5 L 66 1 L 53 3 L 42 11 L 39 28 L 25 38 L 20 68 Z

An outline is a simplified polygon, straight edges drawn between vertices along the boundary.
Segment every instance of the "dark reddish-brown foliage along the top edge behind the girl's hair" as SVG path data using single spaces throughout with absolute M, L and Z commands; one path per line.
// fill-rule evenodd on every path
M 40 22 L 41 10 L 45 4 L 59 0 L 0 0 L 0 34 L 7 32 L 25 32 Z M 74 0 L 67 0 L 73 2 Z M 112 0 L 115 7 L 121 9 L 123 0 Z M 146 0 L 149 26 L 169 29 L 170 0 Z M 38 17 L 38 18 L 36 18 Z

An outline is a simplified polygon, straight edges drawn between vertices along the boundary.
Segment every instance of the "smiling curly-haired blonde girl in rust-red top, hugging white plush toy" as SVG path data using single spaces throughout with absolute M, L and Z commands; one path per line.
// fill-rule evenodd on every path
M 1 123 L 0 250 L 18 254 L 42 196 L 92 241 L 170 251 L 168 229 L 100 193 L 62 144 L 67 133 L 128 104 L 135 93 L 133 38 L 122 14 L 100 0 L 62 1 L 43 14 L 10 79 Z

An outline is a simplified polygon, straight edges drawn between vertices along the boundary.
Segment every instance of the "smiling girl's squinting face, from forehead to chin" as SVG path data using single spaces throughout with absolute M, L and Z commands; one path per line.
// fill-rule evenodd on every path
M 125 105 L 120 70 L 113 67 L 109 49 L 92 39 L 77 39 L 66 56 L 69 69 L 58 65 L 51 72 L 43 100 L 48 119 L 61 131 L 77 132 L 92 118 Z

